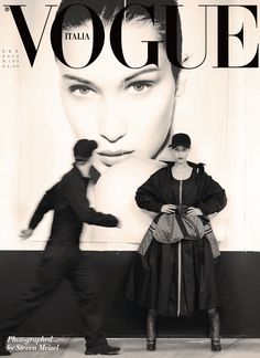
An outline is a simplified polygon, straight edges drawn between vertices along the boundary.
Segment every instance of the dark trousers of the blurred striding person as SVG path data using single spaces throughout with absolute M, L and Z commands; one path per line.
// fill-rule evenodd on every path
M 1 322 L 0 331 L 12 335 L 29 313 L 42 306 L 57 286 L 67 278 L 75 292 L 84 326 L 87 347 L 106 345 L 101 333 L 102 314 L 98 280 L 78 246 L 55 246 L 47 244 L 30 291 L 22 295 L 14 307 L 13 316 Z

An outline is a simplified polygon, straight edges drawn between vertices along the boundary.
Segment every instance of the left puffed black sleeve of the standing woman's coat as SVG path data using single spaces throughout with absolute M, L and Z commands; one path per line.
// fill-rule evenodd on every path
M 162 169 L 154 172 L 136 193 L 136 201 L 139 208 L 148 211 L 161 212 L 163 203 L 160 201 L 160 173 Z

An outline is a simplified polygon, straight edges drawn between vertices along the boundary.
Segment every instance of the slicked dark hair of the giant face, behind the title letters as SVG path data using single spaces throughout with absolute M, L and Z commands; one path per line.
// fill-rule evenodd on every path
M 134 6 L 127 9 L 126 21 L 151 21 L 147 10 L 140 6 L 137 6 L 137 3 L 144 7 L 154 6 L 154 25 L 165 44 L 165 6 L 176 6 L 176 0 L 62 0 L 57 13 L 59 13 L 67 7 L 73 6 L 66 12 L 63 21 L 63 30 L 69 30 L 72 28 L 80 27 L 91 19 L 89 12 L 84 11 L 82 6 L 87 6 L 88 8 L 93 9 L 106 24 L 111 23 L 118 11 L 131 3 L 133 3 Z M 173 25 L 177 27 L 177 59 L 182 59 L 182 27 L 178 12 L 177 24 Z M 172 73 L 176 82 L 178 78 L 180 70 L 180 67 L 172 65 Z

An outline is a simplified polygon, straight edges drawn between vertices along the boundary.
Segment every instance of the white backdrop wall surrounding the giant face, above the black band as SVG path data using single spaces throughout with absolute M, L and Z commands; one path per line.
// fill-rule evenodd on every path
M 197 64 L 204 55 L 204 9 L 199 3 L 256 4 L 258 1 L 182 1 L 184 54 L 187 64 Z M 15 3 L 24 3 L 17 1 Z M 48 2 L 50 3 L 50 2 Z M 52 3 L 57 1 L 52 0 Z M 1 141 L 0 141 L 0 249 L 41 250 L 48 236 L 51 214 L 28 241 L 18 233 L 28 224 L 44 190 L 71 168 L 72 146 L 77 139 L 61 105 L 57 70 L 50 42 L 52 13 L 33 69 L 21 44 L 11 14 L 0 9 L 0 51 L 19 50 L 19 69 L 0 67 Z M 37 42 L 47 8 L 43 1 L 28 1 L 24 10 L 34 41 Z M 214 69 L 216 54 L 216 9 L 208 9 L 208 54 L 196 70 L 183 71 L 183 91 L 172 131 L 186 131 L 193 139 L 192 160 L 206 164 L 210 173 L 226 189 L 227 208 L 213 218 L 213 225 L 225 251 L 260 251 L 258 218 L 260 217 L 258 180 L 260 176 L 260 69 Z M 230 9 L 230 32 L 245 23 L 245 49 L 230 39 L 230 59 L 247 63 L 260 42 L 259 29 L 247 10 Z M 152 140 L 152 138 L 151 138 Z M 170 159 L 170 151 L 161 159 Z M 149 217 L 134 207 L 132 193 L 153 168 L 150 161 L 128 161 L 120 176 L 112 168 L 107 172 L 107 190 L 100 190 L 96 206 L 112 212 L 124 212 L 121 230 L 86 228 L 83 249 L 136 250 Z M 143 169 L 143 170 L 142 170 Z M 113 171 L 112 171 L 113 170 Z M 153 169 L 154 170 L 154 169 Z M 126 179 L 127 178 L 127 179 Z M 100 185 L 101 186 L 101 185 Z M 117 188 L 117 196 L 111 192 Z M 123 201 L 122 201 L 123 198 Z M 106 210 L 106 209 L 105 209 Z M 140 219 L 141 218 L 141 219 Z

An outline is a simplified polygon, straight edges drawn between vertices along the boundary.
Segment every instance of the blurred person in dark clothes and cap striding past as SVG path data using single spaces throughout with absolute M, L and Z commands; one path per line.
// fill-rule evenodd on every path
M 74 147 L 75 164 L 67 173 L 50 189 L 39 203 L 29 229 L 21 231 L 21 238 L 28 239 L 44 214 L 54 210 L 51 235 L 43 252 L 36 280 L 31 289 L 22 295 L 15 313 L 0 317 L 0 356 L 10 355 L 7 350 L 7 338 L 13 335 L 28 314 L 45 303 L 46 298 L 68 278 L 72 283 L 84 324 L 86 355 L 115 355 L 120 348 L 108 345 L 101 331 L 97 280 L 88 261 L 79 250 L 79 236 L 83 223 L 99 227 L 119 227 L 119 221 L 111 214 L 95 211 L 86 198 L 89 182 L 90 157 L 97 144 L 94 140 L 80 139 Z

